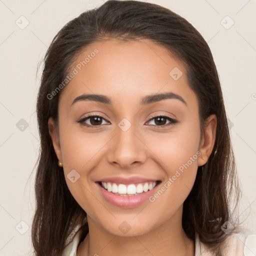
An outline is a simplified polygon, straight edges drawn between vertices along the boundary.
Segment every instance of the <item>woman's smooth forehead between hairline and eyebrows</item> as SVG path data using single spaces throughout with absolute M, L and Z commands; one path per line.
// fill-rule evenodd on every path
M 183 98 L 194 96 L 182 63 L 147 39 L 91 43 L 77 55 L 70 70 L 75 75 L 61 95 L 69 104 L 83 93 L 109 95 L 123 103 L 169 91 Z

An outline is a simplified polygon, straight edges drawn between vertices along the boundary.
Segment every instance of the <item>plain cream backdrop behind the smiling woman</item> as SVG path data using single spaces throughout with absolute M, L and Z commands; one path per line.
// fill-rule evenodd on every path
M 218 69 L 242 185 L 239 214 L 256 227 L 256 0 L 147 0 L 186 18 Z M 103 0 L 0 0 L 0 255 L 28 255 L 38 156 L 37 64 L 57 31 Z M 31 174 L 31 175 L 30 175 Z

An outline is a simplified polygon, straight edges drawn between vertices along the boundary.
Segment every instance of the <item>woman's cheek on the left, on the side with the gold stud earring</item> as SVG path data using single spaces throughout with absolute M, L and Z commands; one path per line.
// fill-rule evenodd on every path
M 89 215 L 95 215 L 95 198 L 91 195 L 94 184 L 89 180 L 89 175 L 91 170 L 99 164 L 98 155 L 107 140 L 108 137 L 106 138 L 105 135 L 103 137 L 103 134 L 100 135 L 100 133 L 88 133 L 80 129 L 78 132 L 75 125 L 65 125 L 60 130 L 66 184 L 77 203 Z M 71 171 L 73 171 L 72 176 L 75 176 L 75 182 L 68 178 Z

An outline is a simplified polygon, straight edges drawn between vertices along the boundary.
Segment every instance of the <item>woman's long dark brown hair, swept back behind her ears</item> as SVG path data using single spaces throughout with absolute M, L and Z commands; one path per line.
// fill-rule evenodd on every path
M 150 39 L 165 47 L 186 68 L 189 86 L 198 99 L 201 128 L 210 114 L 216 114 L 214 148 L 206 164 L 198 167 L 193 188 L 184 201 L 182 226 L 188 237 L 194 239 L 197 232 L 200 240 L 220 255 L 218 245 L 225 239 L 220 227 L 225 221 L 231 221 L 229 206 L 231 201 L 236 205 L 239 190 L 213 57 L 203 37 L 187 20 L 157 4 L 135 0 L 108 0 L 98 8 L 81 13 L 55 35 L 44 57 L 36 105 L 40 154 L 31 231 L 35 255 L 61 255 L 67 237 L 78 224 L 83 230 L 81 240 L 88 232 L 86 212 L 66 185 L 48 131 L 49 117 L 57 123 L 61 91 L 51 99 L 47 95 L 64 80 L 75 56 L 89 44 L 107 38 Z

